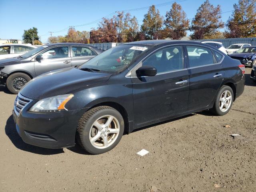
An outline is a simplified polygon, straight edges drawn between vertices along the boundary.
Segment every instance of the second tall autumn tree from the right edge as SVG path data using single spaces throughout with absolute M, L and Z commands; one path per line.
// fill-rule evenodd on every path
M 206 0 L 197 10 L 192 20 L 192 39 L 212 38 L 218 33 L 218 28 L 223 28 L 220 5 L 214 7 Z

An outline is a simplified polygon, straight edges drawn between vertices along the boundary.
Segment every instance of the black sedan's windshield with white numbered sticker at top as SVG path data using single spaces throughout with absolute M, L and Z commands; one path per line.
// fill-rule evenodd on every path
M 119 45 L 92 58 L 80 66 L 79 69 L 89 69 L 92 72 L 121 72 L 150 50 L 151 47 L 145 45 Z

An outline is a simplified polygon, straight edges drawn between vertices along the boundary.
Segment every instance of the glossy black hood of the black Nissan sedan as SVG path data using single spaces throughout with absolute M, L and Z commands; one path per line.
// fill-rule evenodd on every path
M 110 76 L 111 74 L 87 72 L 74 67 L 64 68 L 32 79 L 20 90 L 20 94 L 30 99 L 40 100 L 105 82 Z

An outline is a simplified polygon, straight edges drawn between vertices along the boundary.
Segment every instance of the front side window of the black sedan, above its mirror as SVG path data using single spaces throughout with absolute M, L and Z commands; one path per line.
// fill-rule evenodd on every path
M 172 46 L 159 50 L 142 62 L 142 66 L 145 65 L 155 67 L 157 73 L 182 69 L 182 47 Z

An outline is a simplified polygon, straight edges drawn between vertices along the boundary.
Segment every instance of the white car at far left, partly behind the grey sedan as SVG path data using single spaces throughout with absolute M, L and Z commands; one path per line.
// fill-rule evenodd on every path
M 0 44 L 0 59 L 18 57 L 34 48 L 30 44 Z

